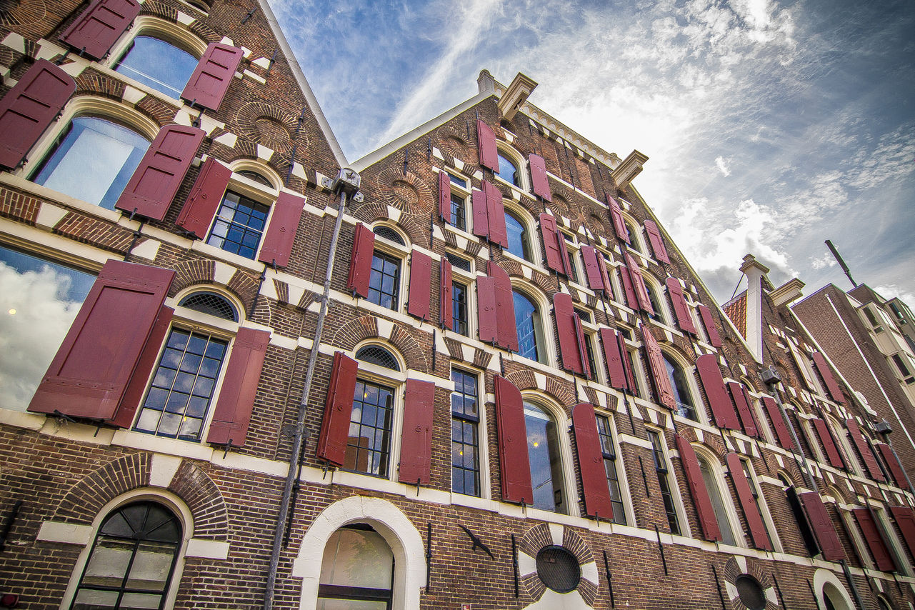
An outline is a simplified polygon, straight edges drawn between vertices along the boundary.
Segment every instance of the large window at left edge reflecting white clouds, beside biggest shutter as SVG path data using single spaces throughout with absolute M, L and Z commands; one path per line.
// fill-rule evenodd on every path
M 25 411 L 95 276 L 0 246 L 0 367 L 5 409 Z

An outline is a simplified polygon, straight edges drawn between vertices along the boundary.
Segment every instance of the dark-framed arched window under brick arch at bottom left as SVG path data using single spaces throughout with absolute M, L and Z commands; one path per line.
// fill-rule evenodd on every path
M 161 608 L 175 572 L 181 523 L 156 502 L 134 502 L 102 520 L 72 610 Z

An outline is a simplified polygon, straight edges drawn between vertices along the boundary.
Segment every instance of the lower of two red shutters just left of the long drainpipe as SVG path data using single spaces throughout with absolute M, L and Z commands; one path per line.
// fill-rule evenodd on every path
M 222 378 L 219 401 L 210 422 L 207 443 L 241 447 L 248 436 L 257 384 L 261 380 L 270 333 L 254 328 L 238 329 Z

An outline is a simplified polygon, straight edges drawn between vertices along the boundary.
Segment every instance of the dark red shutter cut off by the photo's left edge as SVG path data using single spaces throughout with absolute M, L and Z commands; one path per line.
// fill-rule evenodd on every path
M 0 100 L 0 166 L 16 169 L 76 91 L 76 81 L 38 59 Z

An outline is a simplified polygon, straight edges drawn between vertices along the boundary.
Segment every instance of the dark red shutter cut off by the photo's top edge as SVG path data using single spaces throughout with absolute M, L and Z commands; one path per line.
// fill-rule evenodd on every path
M 102 59 L 139 14 L 140 3 L 136 0 L 93 0 L 60 35 L 60 40 L 82 50 L 84 56 Z

